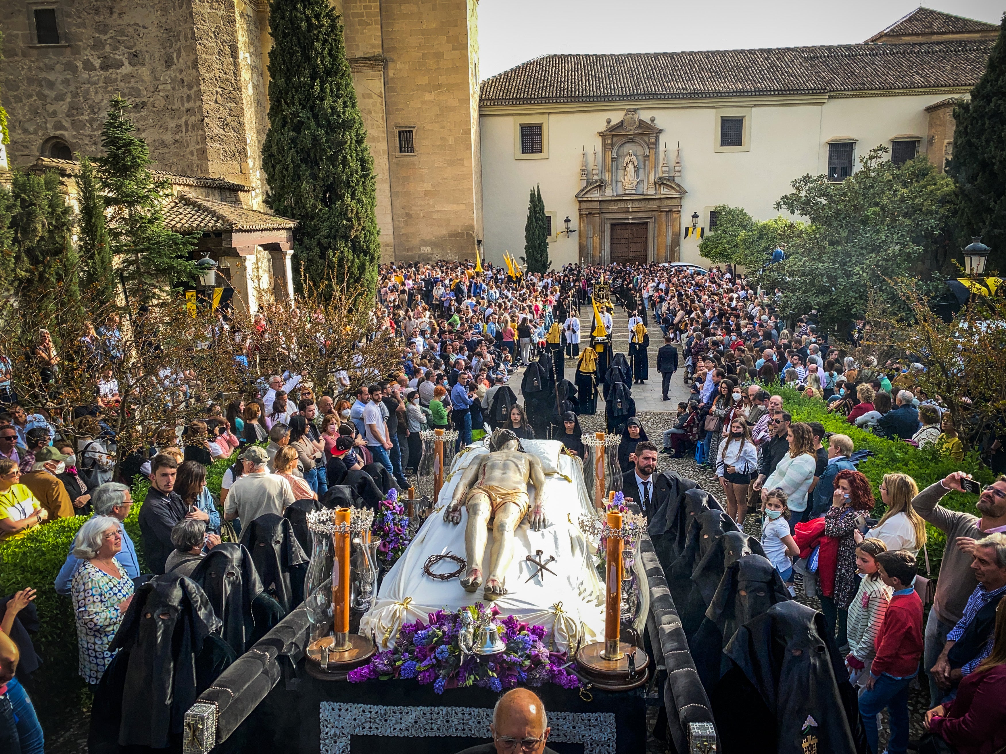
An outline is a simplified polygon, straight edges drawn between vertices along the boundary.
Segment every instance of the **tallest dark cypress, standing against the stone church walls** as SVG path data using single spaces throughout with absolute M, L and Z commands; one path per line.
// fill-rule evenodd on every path
M 271 0 L 266 201 L 300 222 L 297 286 L 347 280 L 373 292 L 380 242 L 373 159 L 328 0 Z

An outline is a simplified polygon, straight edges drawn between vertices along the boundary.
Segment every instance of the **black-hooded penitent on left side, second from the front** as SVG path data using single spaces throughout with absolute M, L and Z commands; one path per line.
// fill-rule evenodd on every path
M 222 621 L 223 640 L 236 654 L 243 654 L 256 633 L 252 603 L 264 591 L 250 553 L 243 545 L 223 542 L 196 566 L 192 580 L 206 592 Z

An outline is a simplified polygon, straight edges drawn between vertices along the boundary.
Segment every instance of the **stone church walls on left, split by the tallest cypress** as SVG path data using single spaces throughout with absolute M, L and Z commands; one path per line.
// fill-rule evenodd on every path
M 477 0 L 332 0 L 377 176 L 383 259 L 474 256 L 481 238 Z M 100 154 L 133 104 L 156 167 L 268 190 L 267 0 L 12 0 L 0 11 L 12 165 Z

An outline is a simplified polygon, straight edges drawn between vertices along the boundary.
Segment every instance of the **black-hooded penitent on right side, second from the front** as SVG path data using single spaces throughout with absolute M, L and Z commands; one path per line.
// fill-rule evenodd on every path
M 729 670 L 723 646 L 733 638 L 737 628 L 788 599 L 790 593 L 768 558 L 751 553 L 726 569 L 695 632 L 695 640 L 689 644 L 707 693 Z

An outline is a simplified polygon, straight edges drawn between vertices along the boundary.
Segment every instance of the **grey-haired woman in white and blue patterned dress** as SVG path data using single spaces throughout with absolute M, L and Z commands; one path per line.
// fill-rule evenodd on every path
M 122 550 L 119 521 L 110 516 L 89 519 L 76 535 L 73 555 L 80 559 L 70 597 L 76 618 L 79 674 L 95 686 L 112 661 L 109 644 L 133 599 L 133 581 L 119 567 Z

